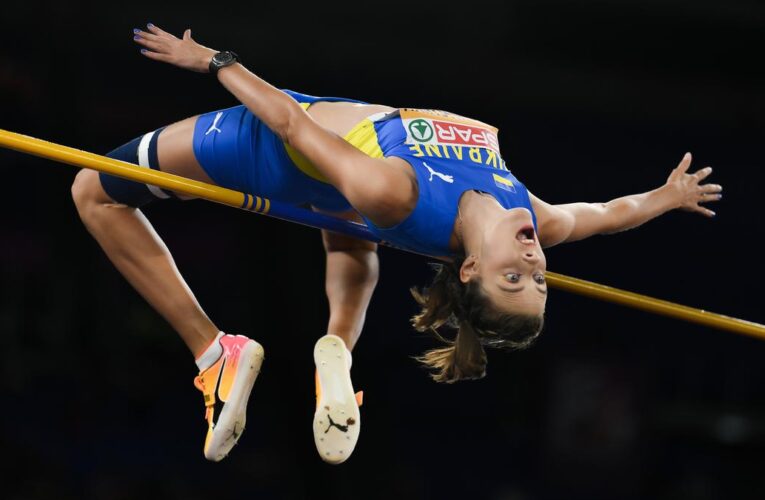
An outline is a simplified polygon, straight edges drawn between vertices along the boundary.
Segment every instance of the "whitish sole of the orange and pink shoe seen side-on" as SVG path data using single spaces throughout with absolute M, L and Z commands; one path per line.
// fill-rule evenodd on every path
M 229 393 L 228 400 L 215 423 L 209 445 L 205 449 L 205 458 L 219 462 L 226 458 L 231 448 L 239 441 L 247 422 L 247 402 L 252 386 L 260 373 L 265 351 L 263 346 L 250 340 L 242 349 L 236 380 Z

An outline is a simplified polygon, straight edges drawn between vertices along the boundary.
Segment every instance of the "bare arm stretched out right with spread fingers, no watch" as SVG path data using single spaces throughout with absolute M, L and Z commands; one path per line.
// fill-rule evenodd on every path
M 529 194 L 539 222 L 540 243 L 550 247 L 596 234 L 617 233 L 637 227 L 673 209 L 714 216 L 712 210 L 700 203 L 722 198 L 722 186 L 702 184 L 712 173 L 711 167 L 689 174 L 690 165 L 691 154 L 686 153 L 663 186 L 606 203 L 550 205 Z

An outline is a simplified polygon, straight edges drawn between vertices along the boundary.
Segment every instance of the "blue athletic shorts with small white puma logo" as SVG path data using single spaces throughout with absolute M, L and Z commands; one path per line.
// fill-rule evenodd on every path
M 359 102 L 284 92 L 305 104 Z M 220 186 L 284 203 L 311 204 L 322 210 L 351 208 L 334 186 L 302 171 L 281 139 L 245 106 L 200 115 L 194 128 L 194 154 Z

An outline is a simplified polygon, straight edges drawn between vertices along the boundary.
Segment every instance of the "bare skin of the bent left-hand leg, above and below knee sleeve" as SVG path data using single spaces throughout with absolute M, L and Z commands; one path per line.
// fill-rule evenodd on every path
M 158 139 L 159 161 L 163 171 L 210 182 L 194 158 L 193 130 L 193 118 L 165 128 Z M 115 267 L 198 356 L 219 330 L 200 307 L 167 246 L 143 213 L 115 202 L 92 170 L 77 174 L 72 197 L 83 223 Z

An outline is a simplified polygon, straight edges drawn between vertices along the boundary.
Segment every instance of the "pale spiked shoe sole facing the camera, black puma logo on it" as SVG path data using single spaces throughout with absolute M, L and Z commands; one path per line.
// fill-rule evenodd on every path
M 361 430 L 345 342 L 336 335 L 325 335 L 316 342 L 313 359 L 321 386 L 313 417 L 314 442 L 322 460 L 339 464 L 353 453 Z

